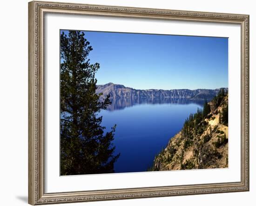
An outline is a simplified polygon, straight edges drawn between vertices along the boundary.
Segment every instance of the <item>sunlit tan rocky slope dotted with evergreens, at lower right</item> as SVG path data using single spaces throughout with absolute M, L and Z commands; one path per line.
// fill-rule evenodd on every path
M 209 113 L 204 114 L 209 107 Z M 228 167 L 228 94 L 191 114 L 154 160 L 151 171 Z

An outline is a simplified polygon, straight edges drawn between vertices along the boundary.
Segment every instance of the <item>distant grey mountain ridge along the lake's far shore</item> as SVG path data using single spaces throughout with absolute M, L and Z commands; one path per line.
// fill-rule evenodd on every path
M 110 99 L 148 99 L 148 98 L 186 98 L 191 100 L 211 100 L 219 89 L 134 89 L 120 84 L 108 83 L 97 85 L 96 93 L 102 93 L 102 97 L 110 95 Z M 228 88 L 224 88 L 225 91 Z

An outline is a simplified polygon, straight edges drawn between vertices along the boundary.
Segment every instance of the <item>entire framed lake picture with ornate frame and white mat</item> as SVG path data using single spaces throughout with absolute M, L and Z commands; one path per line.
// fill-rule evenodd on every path
M 29 204 L 249 191 L 249 15 L 28 7 Z

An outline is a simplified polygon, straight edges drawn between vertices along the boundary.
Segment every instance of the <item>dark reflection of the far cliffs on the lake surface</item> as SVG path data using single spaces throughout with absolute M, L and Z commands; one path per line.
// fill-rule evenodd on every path
M 206 100 L 209 101 L 209 100 Z M 125 107 L 135 106 L 138 104 L 197 104 L 203 106 L 205 100 L 191 100 L 188 98 L 122 98 L 111 99 L 112 104 L 108 106 L 108 111 L 120 110 Z

